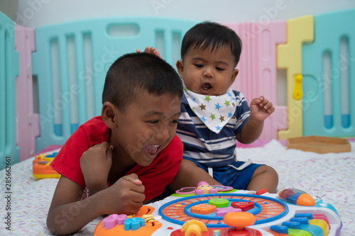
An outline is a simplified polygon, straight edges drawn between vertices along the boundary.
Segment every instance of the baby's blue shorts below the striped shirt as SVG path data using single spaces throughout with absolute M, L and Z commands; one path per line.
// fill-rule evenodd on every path
M 195 164 L 197 167 L 204 169 L 204 171 L 208 172 L 208 167 L 204 167 L 202 164 L 195 162 L 195 160 L 189 157 L 183 157 L 184 159 L 188 159 Z M 233 162 L 231 165 L 234 167 L 240 167 L 245 162 Z M 254 164 L 251 163 L 248 166 L 244 167 L 244 169 L 236 170 L 233 167 L 224 166 L 224 167 L 214 167 L 213 168 L 213 179 L 219 181 L 219 183 L 224 186 L 231 186 L 233 189 L 246 189 L 248 186 L 251 177 L 253 176 L 256 168 L 262 166 L 263 164 Z

